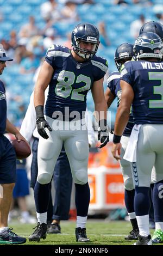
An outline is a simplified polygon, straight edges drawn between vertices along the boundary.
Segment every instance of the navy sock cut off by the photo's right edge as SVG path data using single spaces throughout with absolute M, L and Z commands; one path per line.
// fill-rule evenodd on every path
M 154 221 L 163 222 L 163 180 L 154 184 L 153 188 Z

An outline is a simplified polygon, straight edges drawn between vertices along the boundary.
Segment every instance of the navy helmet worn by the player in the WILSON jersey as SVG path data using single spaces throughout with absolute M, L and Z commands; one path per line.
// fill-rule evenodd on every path
M 134 45 L 136 60 L 142 58 L 162 58 L 162 41 L 160 36 L 155 33 L 147 32 L 140 34 Z

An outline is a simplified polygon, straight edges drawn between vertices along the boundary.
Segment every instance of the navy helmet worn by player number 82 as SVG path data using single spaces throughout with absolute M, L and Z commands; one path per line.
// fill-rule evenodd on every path
M 89 51 L 80 48 L 81 41 L 93 43 L 93 50 Z M 99 46 L 99 31 L 97 27 L 91 23 L 78 24 L 72 31 L 71 45 L 73 51 L 76 52 L 78 56 L 82 57 L 83 59 L 92 58 L 96 54 Z

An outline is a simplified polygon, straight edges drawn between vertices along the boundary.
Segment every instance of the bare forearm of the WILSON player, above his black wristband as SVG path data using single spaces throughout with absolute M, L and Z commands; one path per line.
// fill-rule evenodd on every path
M 129 120 L 130 108 L 118 107 L 115 121 L 115 135 L 121 136 Z

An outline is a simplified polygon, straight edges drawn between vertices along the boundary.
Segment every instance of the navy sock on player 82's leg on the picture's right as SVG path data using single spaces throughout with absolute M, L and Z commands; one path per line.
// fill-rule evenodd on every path
M 90 204 L 90 187 L 88 182 L 84 185 L 75 184 L 75 186 L 77 216 L 85 217 Z

